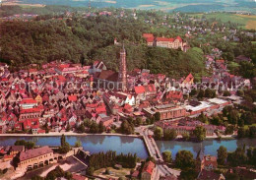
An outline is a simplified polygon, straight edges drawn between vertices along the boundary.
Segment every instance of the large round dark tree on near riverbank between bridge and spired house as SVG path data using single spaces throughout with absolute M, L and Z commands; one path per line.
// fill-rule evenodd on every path
M 195 160 L 191 151 L 179 150 L 176 154 L 175 165 L 181 169 L 195 167 Z

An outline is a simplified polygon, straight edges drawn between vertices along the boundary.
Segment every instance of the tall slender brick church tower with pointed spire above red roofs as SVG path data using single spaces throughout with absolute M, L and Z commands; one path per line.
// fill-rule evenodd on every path
M 123 48 L 120 50 L 120 62 L 119 62 L 119 77 L 118 82 L 122 85 L 122 90 L 127 90 L 127 72 L 126 72 L 126 52 L 123 44 Z

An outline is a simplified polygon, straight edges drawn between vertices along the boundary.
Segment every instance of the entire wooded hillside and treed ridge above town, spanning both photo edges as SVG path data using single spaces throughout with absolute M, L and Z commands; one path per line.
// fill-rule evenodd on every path
M 132 16 L 132 10 L 122 9 L 88 9 L 65 6 L 45 6 L 44 8 L 21 8 L 18 6 L 3 6 L 0 13 L 13 15 L 18 13 L 38 14 L 35 20 L 24 22 L 2 22 L 0 24 L 0 61 L 10 65 L 11 70 L 26 68 L 31 63 L 42 64 L 56 59 L 79 62 L 81 56 L 86 58 L 87 65 L 95 60 L 102 60 L 108 69 L 118 70 L 120 46 L 114 45 L 114 38 L 125 44 L 127 51 L 127 65 L 129 70 L 134 68 L 150 69 L 152 73 L 163 73 L 173 78 L 184 77 L 189 73 L 197 78 L 209 75 L 205 70 L 204 54 L 211 53 L 212 48 L 220 48 L 223 58 L 232 62 L 234 57 L 243 54 L 249 56 L 253 63 L 239 66 L 230 64 L 232 73 L 245 75 L 245 78 L 254 76 L 256 61 L 255 44 L 252 37 L 246 36 L 242 30 L 237 30 L 239 43 L 224 41 L 223 32 L 198 33 L 194 38 L 187 38 L 187 30 L 171 29 L 187 25 L 207 29 L 214 22 L 218 22 L 213 29 L 232 30 L 236 24 L 223 24 L 219 20 L 210 19 L 200 24 L 189 20 L 186 14 L 166 16 L 160 11 L 136 11 L 138 19 Z M 112 12 L 112 16 L 98 16 L 100 11 Z M 65 13 L 70 11 L 72 18 Z M 125 12 L 124 18 L 120 17 Z M 85 13 L 94 12 L 96 16 L 85 18 Z M 6 15 L 7 15 L 6 14 Z M 2 14 L 3 16 L 3 14 Z M 1 17 L 1 15 L 0 15 Z M 162 18 L 165 17 L 165 18 Z M 204 16 L 202 19 L 205 19 Z M 151 22 L 151 23 L 149 23 Z M 180 35 L 188 41 L 190 49 L 185 53 L 181 50 L 172 50 L 158 47 L 148 47 L 142 37 L 144 32 L 152 32 L 156 36 L 175 37 Z M 197 32 L 197 31 L 195 31 Z M 226 33 L 226 32 L 225 32 Z M 228 35 L 226 33 L 226 35 Z M 205 45 L 209 43 L 209 45 Z M 200 47 L 200 48 L 199 48 Z M 249 68 L 248 68 L 249 67 Z M 243 71 L 245 69 L 246 71 Z M 249 70 L 250 72 L 247 72 Z M 241 71 L 243 71 L 241 73 Z M 245 73 L 244 73 L 245 72 Z

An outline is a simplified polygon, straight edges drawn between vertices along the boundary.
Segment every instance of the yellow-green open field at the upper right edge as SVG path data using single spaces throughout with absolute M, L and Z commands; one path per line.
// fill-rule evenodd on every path
M 202 18 L 205 16 L 207 19 L 221 20 L 224 23 L 231 22 L 241 26 L 247 30 L 256 30 L 256 16 L 255 15 L 237 15 L 230 13 L 211 13 L 211 14 L 192 14 L 191 16 Z

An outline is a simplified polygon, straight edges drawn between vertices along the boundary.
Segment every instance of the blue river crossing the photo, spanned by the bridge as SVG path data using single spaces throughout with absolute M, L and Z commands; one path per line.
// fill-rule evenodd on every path
M 33 141 L 38 146 L 59 146 L 60 137 L 0 137 L 0 146 L 13 145 L 16 140 Z M 84 150 L 89 150 L 91 153 L 99 151 L 115 150 L 117 153 L 137 153 L 140 158 L 147 158 L 143 140 L 133 137 L 123 136 L 105 136 L 105 135 L 89 135 L 89 136 L 67 136 L 66 141 L 74 146 L 76 141 L 81 141 Z M 233 151 L 238 147 L 255 147 L 256 139 L 242 140 L 206 140 L 202 143 L 202 148 L 205 154 L 217 155 L 217 150 L 224 146 L 228 151 Z M 196 156 L 201 148 L 200 143 L 192 142 L 177 142 L 177 141 L 157 141 L 160 152 L 170 150 L 174 157 L 178 150 L 190 150 Z

